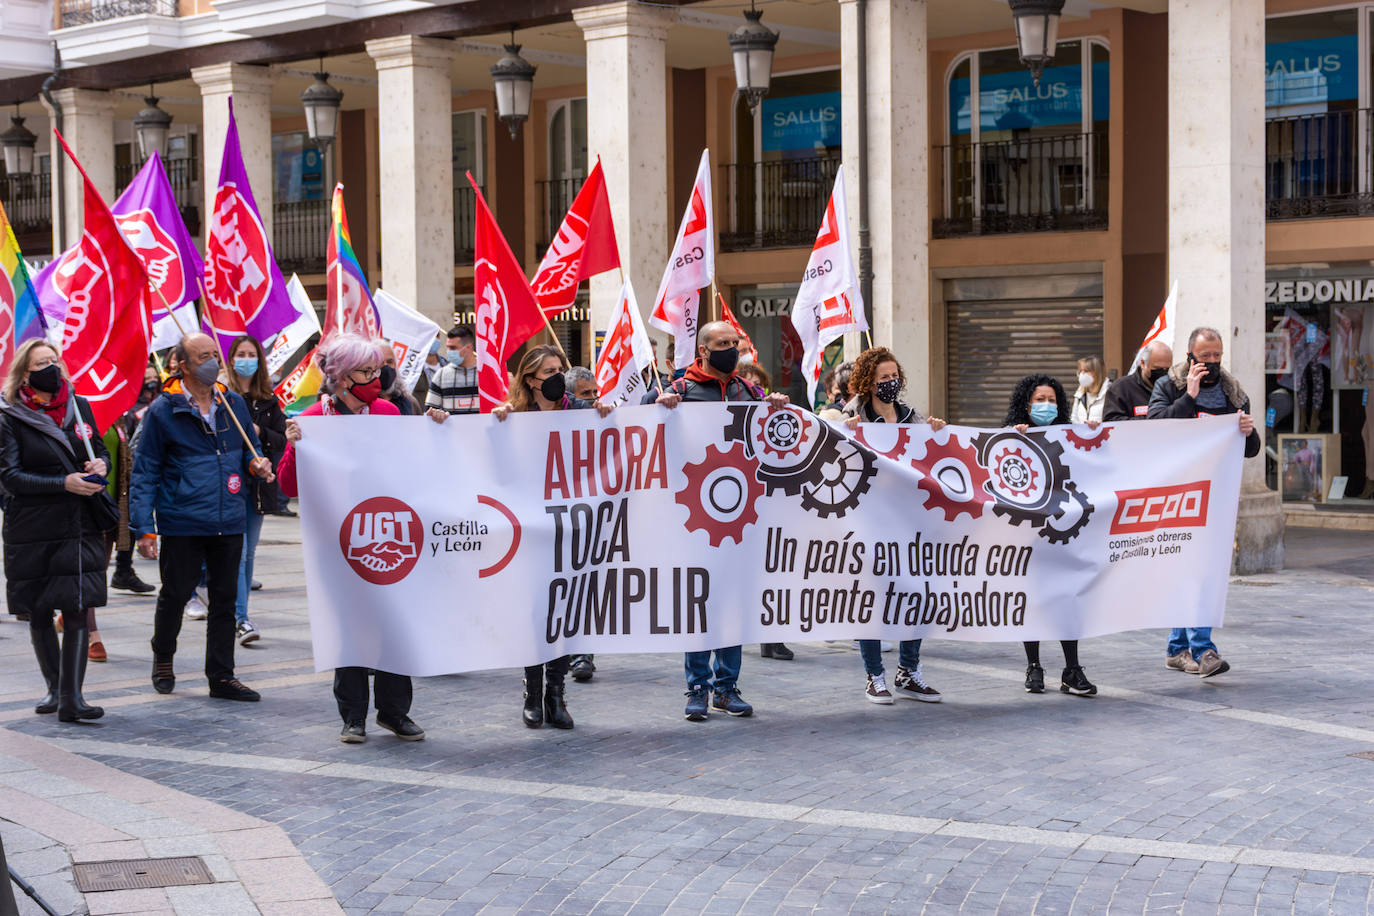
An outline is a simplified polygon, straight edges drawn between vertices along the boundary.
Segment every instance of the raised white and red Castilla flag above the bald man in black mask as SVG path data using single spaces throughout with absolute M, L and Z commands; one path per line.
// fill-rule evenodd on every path
M 716 222 L 710 209 L 710 151 L 702 150 L 697 183 L 692 184 L 687 211 L 677 227 L 677 242 L 649 317 L 655 328 L 673 335 L 679 369 L 697 358 L 697 306 L 701 290 L 710 286 L 716 276 Z

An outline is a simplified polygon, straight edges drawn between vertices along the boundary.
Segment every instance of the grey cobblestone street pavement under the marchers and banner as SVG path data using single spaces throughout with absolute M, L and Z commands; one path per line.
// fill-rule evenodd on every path
M 32 714 L 0 622 L 0 724 L 282 827 L 350 913 L 1364 913 L 1374 906 L 1374 537 L 1290 533 L 1237 580 L 1232 670 L 1164 633 L 1083 643 L 1095 699 L 1021 689 L 1020 645 L 930 640 L 941 705 L 874 706 L 857 654 L 746 648 L 753 718 L 684 722 L 677 656 L 600 656 L 572 732 L 519 722 L 519 673 L 416 681 L 407 744 L 338 743 L 309 659 L 294 520 L 269 519 L 239 650 L 260 705 L 209 700 L 203 623 L 148 685 L 153 600 L 99 612 L 98 724 Z M 140 574 L 155 577 L 153 564 Z M 451 602 L 460 639 L 460 596 Z M 1058 648 L 1041 650 L 1046 667 Z M 889 667 L 894 656 L 885 656 Z M 1054 678 L 1050 678 L 1054 683 Z M 1052 691 L 1052 687 L 1051 687 Z

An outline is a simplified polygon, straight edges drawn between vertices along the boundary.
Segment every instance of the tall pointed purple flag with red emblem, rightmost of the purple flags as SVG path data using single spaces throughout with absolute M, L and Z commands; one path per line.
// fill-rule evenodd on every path
M 267 342 L 297 317 L 243 169 L 234 99 L 209 229 L 203 323 L 228 357 L 235 336 L 247 332 Z

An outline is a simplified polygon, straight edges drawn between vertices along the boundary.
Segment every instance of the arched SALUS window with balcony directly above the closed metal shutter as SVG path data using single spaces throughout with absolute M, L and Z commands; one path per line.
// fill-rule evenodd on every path
M 936 236 L 1106 228 L 1110 80 L 1099 40 L 1061 41 L 1039 87 L 1015 48 L 956 60 Z

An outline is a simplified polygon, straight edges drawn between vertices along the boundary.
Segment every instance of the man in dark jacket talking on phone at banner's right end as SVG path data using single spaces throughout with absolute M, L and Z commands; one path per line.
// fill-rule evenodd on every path
M 1147 417 L 1191 419 L 1237 415 L 1237 428 L 1245 437 L 1245 457 L 1260 453 L 1260 434 L 1250 416 L 1250 398 L 1234 375 L 1221 368 L 1221 334 L 1216 328 L 1194 328 L 1189 335 L 1189 357 L 1154 383 Z M 1165 665 L 1198 677 L 1215 677 L 1231 670 L 1212 643 L 1210 626 L 1178 626 L 1169 633 Z

